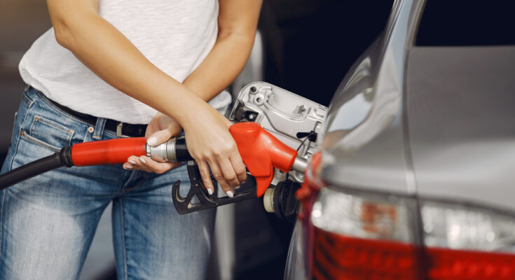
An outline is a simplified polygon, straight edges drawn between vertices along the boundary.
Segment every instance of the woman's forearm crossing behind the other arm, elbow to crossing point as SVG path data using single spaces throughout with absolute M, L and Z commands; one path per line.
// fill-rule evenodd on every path
M 183 84 L 198 97 L 209 101 L 240 74 L 252 50 L 252 34 L 220 34 L 217 43 Z

